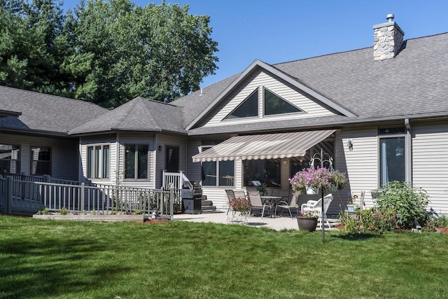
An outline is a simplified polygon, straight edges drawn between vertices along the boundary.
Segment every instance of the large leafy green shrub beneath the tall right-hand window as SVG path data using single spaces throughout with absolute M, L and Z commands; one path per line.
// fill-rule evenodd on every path
M 388 218 L 395 215 L 398 228 L 412 228 L 414 221 L 424 225 L 428 219 L 425 211 L 428 205 L 428 194 L 422 188 L 412 187 L 410 182 L 386 183 L 375 205 L 376 209 L 381 211 L 381 215 L 377 214 L 377 217 Z

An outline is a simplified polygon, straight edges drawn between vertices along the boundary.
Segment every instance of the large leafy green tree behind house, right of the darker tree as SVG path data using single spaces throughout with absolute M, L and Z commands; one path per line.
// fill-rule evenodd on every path
M 106 107 L 137 96 L 171 102 L 199 89 L 216 69 L 209 17 L 188 14 L 187 5 L 89 0 L 68 22 L 78 99 Z

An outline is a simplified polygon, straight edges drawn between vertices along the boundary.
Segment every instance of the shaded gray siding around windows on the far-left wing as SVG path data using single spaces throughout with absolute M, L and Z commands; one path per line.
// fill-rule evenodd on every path
M 20 171 L 23 174 L 30 174 L 31 146 L 48 146 L 51 148 L 51 176 L 55 179 L 78 179 L 78 139 L 0 134 L 0 142 L 20 146 Z

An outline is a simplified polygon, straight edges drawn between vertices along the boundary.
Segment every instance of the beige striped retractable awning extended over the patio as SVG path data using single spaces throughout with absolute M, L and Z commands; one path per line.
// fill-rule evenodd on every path
M 336 130 L 232 137 L 193 156 L 193 162 L 302 157 Z

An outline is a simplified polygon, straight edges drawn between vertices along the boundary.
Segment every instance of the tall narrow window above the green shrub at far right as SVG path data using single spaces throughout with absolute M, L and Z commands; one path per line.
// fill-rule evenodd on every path
M 379 184 L 406 181 L 405 128 L 379 130 Z

